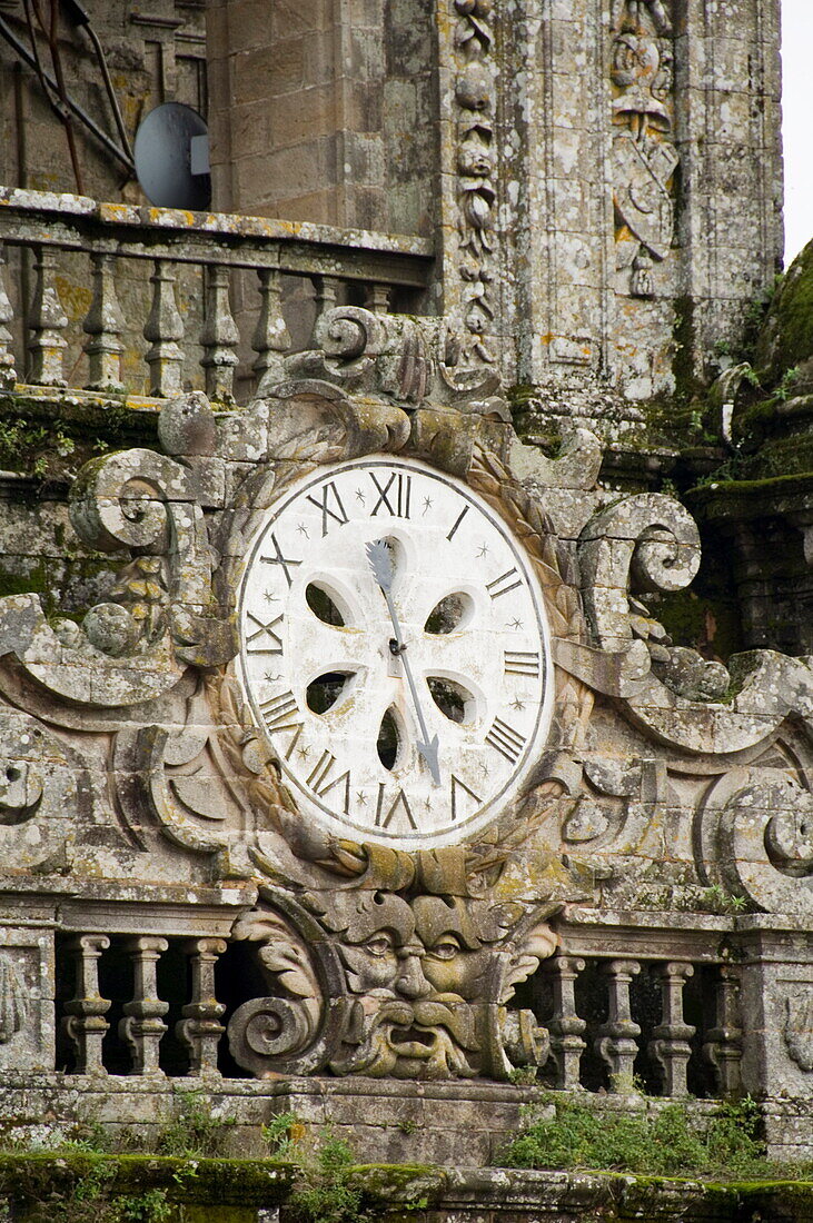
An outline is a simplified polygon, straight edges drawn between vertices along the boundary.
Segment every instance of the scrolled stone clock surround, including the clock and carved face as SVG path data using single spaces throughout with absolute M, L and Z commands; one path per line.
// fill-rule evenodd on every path
M 813 671 L 675 647 L 654 600 L 697 572 L 686 510 L 594 488 L 583 430 L 521 448 L 444 324 L 347 308 L 319 335 L 248 408 L 181 396 L 165 454 L 79 473 L 71 521 L 116 570 L 81 626 L 0 599 L 4 872 L 253 881 L 232 939 L 265 983 L 229 1021 L 253 1074 L 505 1079 L 546 1057 L 512 992 L 562 904 L 718 884 L 809 914 Z M 144 1073 L 161 942 L 133 943 L 122 1021 Z

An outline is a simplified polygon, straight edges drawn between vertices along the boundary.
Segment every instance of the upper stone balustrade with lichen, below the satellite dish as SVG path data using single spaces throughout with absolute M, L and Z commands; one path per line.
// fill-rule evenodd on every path
M 432 268 L 417 237 L 10 188 L 0 247 L 0 389 L 225 404 L 337 303 L 414 311 Z

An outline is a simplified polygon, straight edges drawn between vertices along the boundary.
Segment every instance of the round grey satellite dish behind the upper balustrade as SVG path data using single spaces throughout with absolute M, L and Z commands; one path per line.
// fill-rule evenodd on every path
M 166 102 L 136 132 L 136 174 L 158 208 L 205 210 L 212 203 L 209 133 L 197 110 Z

